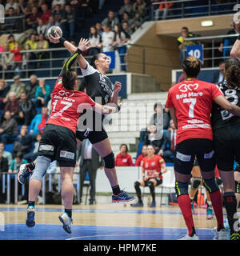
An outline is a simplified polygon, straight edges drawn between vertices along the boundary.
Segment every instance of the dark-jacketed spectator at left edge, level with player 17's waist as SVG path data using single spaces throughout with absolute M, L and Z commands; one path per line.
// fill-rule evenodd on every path
M 5 112 L 4 119 L 0 126 L 0 141 L 9 144 L 14 142 L 18 136 L 18 123 L 14 118 L 11 118 L 10 111 Z

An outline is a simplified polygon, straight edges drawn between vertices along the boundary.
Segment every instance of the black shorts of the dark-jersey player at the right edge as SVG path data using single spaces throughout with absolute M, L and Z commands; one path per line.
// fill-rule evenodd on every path
M 240 162 L 240 127 L 229 126 L 214 132 L 214 151 L 218 170 L 234 170 L 234 160 Z

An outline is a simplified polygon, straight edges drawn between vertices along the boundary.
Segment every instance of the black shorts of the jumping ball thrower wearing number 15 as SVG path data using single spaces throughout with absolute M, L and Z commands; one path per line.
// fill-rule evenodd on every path
M 95 131 L 95 130 L 84 130 L 84 131 L 80 131 L 77 130 L 76 132 L 76 138 L 78 138 L 81 142 L 88 138 L 89 141 L 92 144 L 98 143 L 98 142 L 102 142 L 103 140 L 105 140 L 106 138 L 108 138 L 107 134 L 106 134 L 106 130 L 102 129 L 102 131 Z

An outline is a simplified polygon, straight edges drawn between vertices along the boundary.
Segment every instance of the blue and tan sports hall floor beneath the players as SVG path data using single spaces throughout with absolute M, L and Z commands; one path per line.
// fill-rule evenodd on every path
M 26 205 L 0 205 L 5 223 L 0 240 L 176 240 L 186 234 L 178 206 L 152 209 L 106 203 L 73 209 L 72 234 L 67 234 L 58 220 L 62 206 L 36 206 L 36 225 L 28 228 Z M 215 216 L 207 220 L 206 209 L 195 208 L 194 223 L 200 239 L 213 238 Z

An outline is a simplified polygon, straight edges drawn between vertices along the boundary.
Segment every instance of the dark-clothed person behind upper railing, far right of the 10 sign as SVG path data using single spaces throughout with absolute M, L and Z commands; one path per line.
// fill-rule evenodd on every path
M 240 33 L 240 22 L 234 22 L 233 21 L 234 28 L 232 30 L 229 30 L 227 34 L 239 34 Z M 230 48 L 224 48 L 224 46 L 234 46 L 234 42 L 238 39 L 238 37 L 231 37 L 231 38 L 223 38 L 222 42 L 220 43 L 220 46 L 218 50 L 222 53 L 223 57 L 230 56 Z

